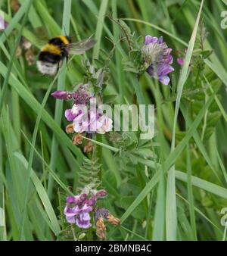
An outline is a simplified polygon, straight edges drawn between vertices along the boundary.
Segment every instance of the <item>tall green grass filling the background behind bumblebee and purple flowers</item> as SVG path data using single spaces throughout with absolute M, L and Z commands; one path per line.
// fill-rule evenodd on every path
M 120 226 L 107 226 L 107 239 L 226 240 L 221 210 L 227 207 L 227 50 L 220 27 L 225 1 L 19 2 L 17 12 L 10 1 L 1 4 L 9 25 L 0 34 L 0 239 L 73 239 L 62 198 L 76 193 L 87 156 L 64 132 L 70 104 L 55 102 L 50 93 L 82 83 L 82 60 L 95 64 L 114 45 L 104 96 L 116 95 L 113 104 L 154 104 L 156 123 L 154 139 L 146 142 L 132 132 L 120 133 L 127 138 L 122 144 L 110 135 L 92 139 L 108 192 L 102 206 L 121 219 Z M 123 70 L 128 48 L 111 21 L 116 18 L 135 37 L 163 36 L 173 48 L 169 86 L 147 74 L 138 83 Z M 204 51 L 212 53 L 200 74 L 193 65 L 202 22 L 209 32 Z M 54 78 L 29 66 L 24 52 L 16 56 L 21 36 L 32 42 L 37 58 L 42 41 L 65 33 L 75 41 L 93 35 L 97 43 L 86 56 L 64 62 Z M 178 52 L 183 67 L 176 62 Z

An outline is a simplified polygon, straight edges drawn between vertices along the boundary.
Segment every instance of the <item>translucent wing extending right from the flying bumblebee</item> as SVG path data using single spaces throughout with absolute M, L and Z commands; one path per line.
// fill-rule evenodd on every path
M 71 55 L 82 55 L 87 50 L 92 48 L 95 45 L 96 41 L 95 39 L 84 39 L 80 42 L 73 42 L 70 43 L 70 54 Z

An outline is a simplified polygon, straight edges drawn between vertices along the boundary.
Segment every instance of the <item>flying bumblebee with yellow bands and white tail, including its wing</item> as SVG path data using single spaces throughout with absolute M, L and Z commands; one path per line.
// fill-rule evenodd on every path
M 39 53 L 37 68 L 41 73 L 53 76 L 58 73 L 64 58 L 68 60 L 70 54 L 81 55 L 94 45 L 95 39 L 91 38 L 73 43 L 69 36 L 56 36 Z

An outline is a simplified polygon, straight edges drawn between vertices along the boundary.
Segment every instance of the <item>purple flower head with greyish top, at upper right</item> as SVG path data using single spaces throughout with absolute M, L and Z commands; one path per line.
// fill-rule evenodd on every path
M 142 58 L 145 61 L 145 68 L 147 72 L 156 77 L 160 83 L 164 85 L 169 84 L 168 73 L 173 72 L 173 57 L 170 55 L 171 48 L 168 48 L 163 37 L 160 38 L 146 36 L 145 45 L 141 49 Z

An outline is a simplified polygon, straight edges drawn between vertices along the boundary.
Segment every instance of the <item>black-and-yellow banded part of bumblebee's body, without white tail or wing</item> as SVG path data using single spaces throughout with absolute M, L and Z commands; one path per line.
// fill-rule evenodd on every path
M 57 36 L 50 39 L 39 54 L 39 61 L 58 64 L 64 57 L 68 56 L 67 45 L 70 42 L 67 36 Z

